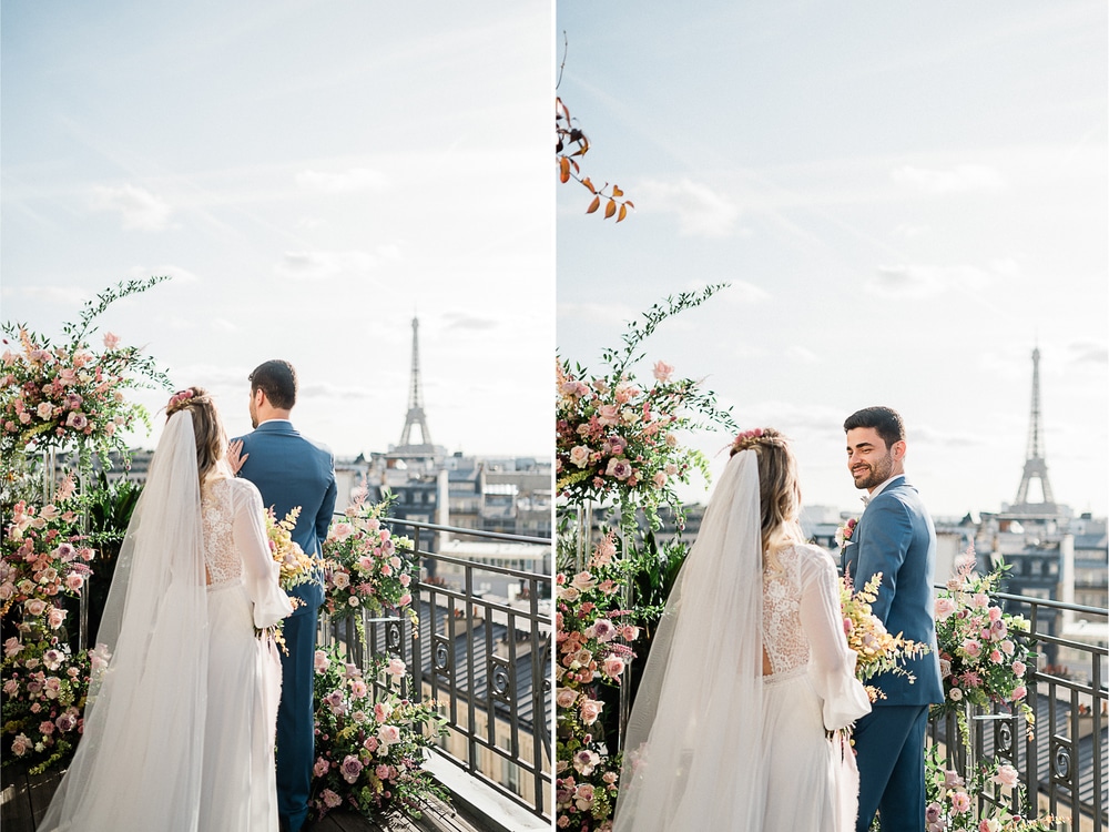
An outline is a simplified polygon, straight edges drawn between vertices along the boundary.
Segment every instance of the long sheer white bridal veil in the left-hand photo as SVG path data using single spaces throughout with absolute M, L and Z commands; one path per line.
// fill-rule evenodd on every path
M 40 832 L 196 832 L 205 584 L 196 444 L 182 409 L 165 425 L 128 527 L 96 633 L 83 737 Z

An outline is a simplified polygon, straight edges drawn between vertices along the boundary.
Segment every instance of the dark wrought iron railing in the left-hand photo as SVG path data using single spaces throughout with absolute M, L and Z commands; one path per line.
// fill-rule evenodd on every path
M 415 520 L 386 521 L 394 535 L 414 541 L 420 567 L 413 592 L 419 630 L 403 615 L 367 617 L 369 649 L 399 656 L 408 664 L 416 692 L 444 704 L 449 732 L 440 751 L 446 759 L 505 799 L 550 820 L 551 541 Z M 523 547 L 548 566 L 529 571 L 433 551 L 440 535 Z M 494 595 L 485 586 L 489 584 L 511 589 Z M 360 663 L 364 657 L 348 626 L 325 627 L 323 638 L 350 645 L 352 659 Z

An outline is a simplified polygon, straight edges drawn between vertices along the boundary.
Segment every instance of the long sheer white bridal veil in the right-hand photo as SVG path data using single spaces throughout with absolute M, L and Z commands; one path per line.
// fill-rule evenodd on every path
M 614 832 L 761 830 L 762 532 L 733 456 L 667 601 L 632 707 Z

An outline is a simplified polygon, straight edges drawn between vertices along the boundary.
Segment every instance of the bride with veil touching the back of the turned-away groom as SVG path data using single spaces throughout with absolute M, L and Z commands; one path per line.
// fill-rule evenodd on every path
M 166 415 L 96 637 L 83 737 L 40 832 L 277 829 L 281 664 L 254 628 L 292 605 L 211 396 L 190 387 Z

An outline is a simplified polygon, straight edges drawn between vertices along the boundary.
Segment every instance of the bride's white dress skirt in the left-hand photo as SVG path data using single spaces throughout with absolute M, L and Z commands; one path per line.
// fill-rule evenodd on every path
M 208 693 L 199 830 L 275 832 L 281 661 L 254 633 L 241 579 L 208 589 Z

